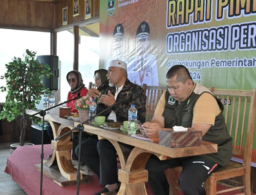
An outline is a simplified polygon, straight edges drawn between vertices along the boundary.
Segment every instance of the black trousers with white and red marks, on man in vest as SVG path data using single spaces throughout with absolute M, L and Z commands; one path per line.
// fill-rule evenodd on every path
M 146 169 L 149 171 L 149 185 L 154 195 L 169 195 L 169 184 L 164 171 L 182 166 L 179 186 L 184 195 L 206 195 L 204 182 L 221 166 L 204 156 L 160 160 L 150 156 Z

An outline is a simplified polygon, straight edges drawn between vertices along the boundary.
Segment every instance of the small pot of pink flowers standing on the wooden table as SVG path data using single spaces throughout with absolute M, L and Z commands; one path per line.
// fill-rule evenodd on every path
M 91 97 L 84 96 L 76 101 L 75 108 L 78 110 L 81 122 L 84 122 L 89 118 L 89 108 L 91 100 Z

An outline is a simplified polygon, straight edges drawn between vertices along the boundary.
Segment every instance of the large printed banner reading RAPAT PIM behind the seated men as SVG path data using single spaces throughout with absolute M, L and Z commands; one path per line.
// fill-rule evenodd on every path
M 100 65 L 122 59 L 132 82 L 165 86 L 182 64 L 206 87 L 252 90 L 255 20 L 255 0 L 101 0 Z

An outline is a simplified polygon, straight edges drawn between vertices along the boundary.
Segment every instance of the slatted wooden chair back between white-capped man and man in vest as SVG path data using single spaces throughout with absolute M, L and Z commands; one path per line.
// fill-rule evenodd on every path
M 150 121 L 154 116 L 156 105 L 167 87 L 143 84 L 142 88 L 145 90 L 147 96 L 146 121 Z

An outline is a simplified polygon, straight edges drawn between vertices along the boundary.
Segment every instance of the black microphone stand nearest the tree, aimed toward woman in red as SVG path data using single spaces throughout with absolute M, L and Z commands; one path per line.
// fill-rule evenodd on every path
M 40 195 L 42 195 L 42 192 L 43 192 L 43 156 L 44 156 L 44 154 L 43 154 L 43 131 L 44 131 L 44 116 L 46 115 L 46 111 L 51 110 L 51 109 L 53 109 L 53 108 L 56 108 L 56 107 L 58 107 L 58 106 L 60 106 L 60 105 L 62 105 L 62 104 L 65 104 L 65 103 L 69 102 L 69 101 L 73 101 L 73 100 L 79 99 L 79 98 L 81 98 L 80 92 L 77 92 L 77 97 L 76 97 L 76 98 L 69 99 L 69 100 L 67 100 L 67 101 L 64 101 L 63 103 L 58 104 L 58 105 L 52 106 L 52 107 L 47 108 L 47 109 L 45 109 L 45 110 L 41 110 L 40 112 L 37 112 L 36 114 L 29 115 L 29 116 L 27 116 L 27 117 L 21 118 L 21 121 L 22 121 L 22 120 L 25 120 L 25 119 L 27 119 L 27 118 L 34 117 L 34 116 L 36 116 L 36 115 L 38 115 L 38 114 L 39 114 L 41 117 L 43 117 L 43 118 L 42 118 L 42 119 L 43 119 L 42 141 L 41 141 L 41 142 L 42 142 L 42 149 L 41 149 Z

